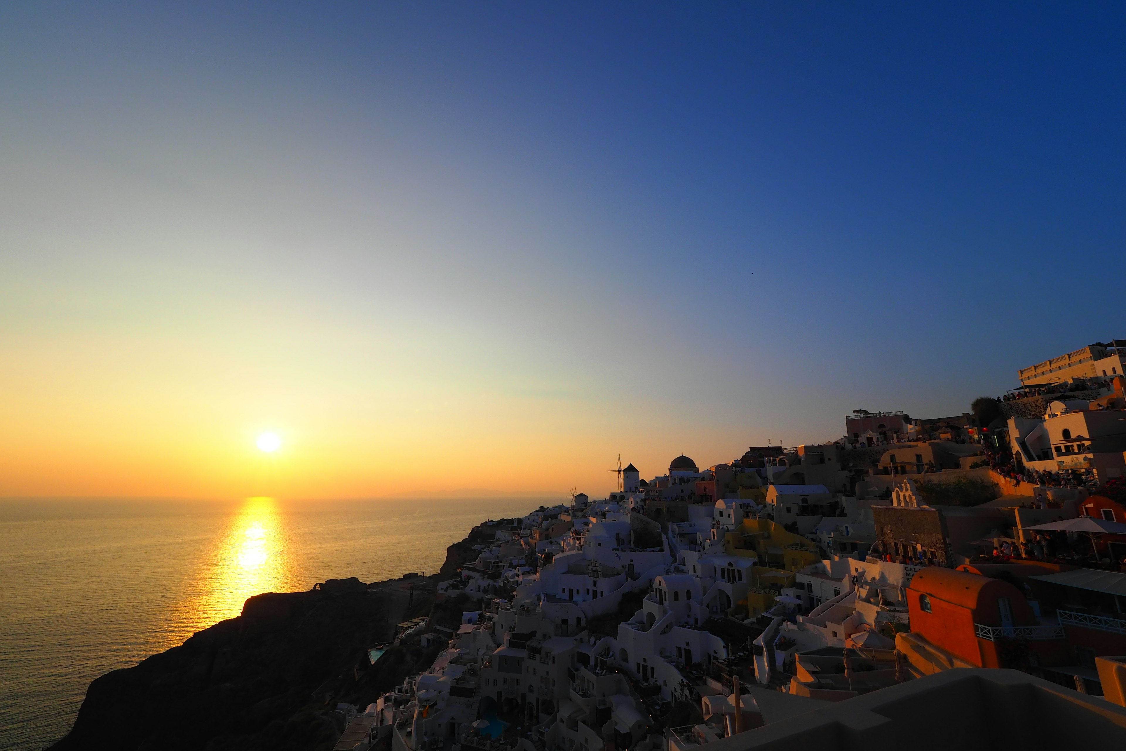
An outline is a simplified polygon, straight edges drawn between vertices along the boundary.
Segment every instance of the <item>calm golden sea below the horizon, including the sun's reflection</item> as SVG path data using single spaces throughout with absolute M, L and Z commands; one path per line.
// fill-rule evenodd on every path
M 57 740 L 92 679 L 252 594 L 435 572 L 473 525 L 543 502 L 0 501 L 0 749 Z

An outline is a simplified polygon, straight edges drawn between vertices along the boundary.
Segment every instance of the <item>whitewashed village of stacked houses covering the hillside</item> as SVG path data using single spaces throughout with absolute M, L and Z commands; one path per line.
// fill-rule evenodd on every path
M 832 442 L 631 464 L 481 525 L 437 587 L 461 624 L 402 624 L 439 656 L 337 748 L 1126 739 L 1124 360 L 1091 345 L 972 412 L 856 410 Z

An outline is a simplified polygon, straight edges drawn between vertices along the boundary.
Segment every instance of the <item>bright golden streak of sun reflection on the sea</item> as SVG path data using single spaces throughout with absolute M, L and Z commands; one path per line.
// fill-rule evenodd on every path
M 197 629 L 238 616 L 248 597 L 292 589 L 283 519 L 272 498 L 249 498 L 232 516 L 202 582 Z

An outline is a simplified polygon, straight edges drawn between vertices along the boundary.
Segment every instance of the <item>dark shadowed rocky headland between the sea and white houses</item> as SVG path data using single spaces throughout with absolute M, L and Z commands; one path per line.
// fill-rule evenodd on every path
M 408 645 L 372 665 L 367 650 L 391 641 L 405 618 L 459 623 L 462 604 L 436 605 L 435 588 L 486 538 L 475 527 L 429 576 L 329 580 L 251 597 L 240 616 L 95 679 L 71 731 L 50 749 L 331 749 L 343 728 L 338 704 L 364 707 L 434 661 L 438 647 Z

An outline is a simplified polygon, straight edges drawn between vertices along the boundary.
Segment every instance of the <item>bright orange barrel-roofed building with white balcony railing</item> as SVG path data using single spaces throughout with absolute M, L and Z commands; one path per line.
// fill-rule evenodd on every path
M 1064 629 L 1040 625 L 1016 587 L 929 566 L 908 589 L 911 632 L 978 668 L 1035 668 L 1066 660 Z

